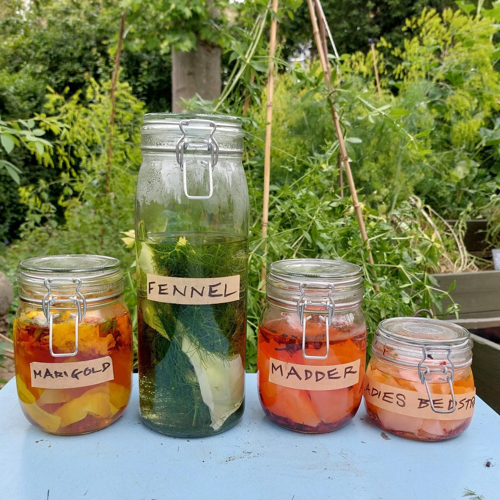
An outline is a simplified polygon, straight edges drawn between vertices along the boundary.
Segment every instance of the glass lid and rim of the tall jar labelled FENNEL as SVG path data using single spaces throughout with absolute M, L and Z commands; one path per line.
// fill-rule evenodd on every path
M 141 132 L 142 152 L 177 152 L 182 141 L 185 150 L 204 149 L 208 140 L 218 154 L 243 151 L 242 120 L 222 114 L 146 113 Z

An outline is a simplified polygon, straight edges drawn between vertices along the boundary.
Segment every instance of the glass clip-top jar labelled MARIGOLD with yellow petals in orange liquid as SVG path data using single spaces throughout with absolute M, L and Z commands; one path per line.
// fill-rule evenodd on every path
M 52 434 L 114 422 L 128 403 L 132 328 L 116 258 L 23 260 L 14 318 L 17 394 L 26 418 Z

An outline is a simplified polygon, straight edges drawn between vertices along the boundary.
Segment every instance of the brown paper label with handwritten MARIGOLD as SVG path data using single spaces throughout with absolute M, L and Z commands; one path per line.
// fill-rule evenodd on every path
M 114 378 L 113 361 L 109 356 L 70 363 L 29 363 L 31 386 L 45 389 L 86 387 Z

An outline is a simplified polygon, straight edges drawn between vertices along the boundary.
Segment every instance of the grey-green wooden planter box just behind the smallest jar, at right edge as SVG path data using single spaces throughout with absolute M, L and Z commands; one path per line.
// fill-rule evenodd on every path
M 472 369 L 477 395 L 500 413 L 500 270 L 433 274 L 439 287 L 451 291 L 461 305 L 458 319 L 447 318 L 471 330 Z M 446 306 L 450 301 L 444 301 Z M 477 334 L 475 334 L 477 333 Z M 484 338 L 484 337 L 488 337 Z

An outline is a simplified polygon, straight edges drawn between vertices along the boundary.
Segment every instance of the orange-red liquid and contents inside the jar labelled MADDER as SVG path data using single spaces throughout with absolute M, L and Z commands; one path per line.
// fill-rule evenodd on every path
M 305 353 L 326 353 L 324 323 L 307 322 Z M 270 321 L 259 327 L 257 344 L 257 383 L 260 403 L 267 416 L 279 425 L 300 432 L 329 432 L 345 425 L 356 413 L 361 401 L 366 330 L 351 332 L 329 330 L 329 354 L 326 359 L 308 359 L 302 355 L 302 332 L 284 321 Z M 357 383 L 329 390 L 305 390 L 284 387 L 269 381 L 269 358 L 293 364 L 337 365 L 360 360 Z

